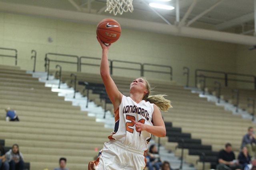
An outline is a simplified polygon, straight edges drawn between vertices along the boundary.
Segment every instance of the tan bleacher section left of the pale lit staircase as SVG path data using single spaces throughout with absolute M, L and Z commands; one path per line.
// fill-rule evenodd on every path
M 88 117 L 80 107 L 65 102 L 57 92 L 16 66 L 0 66 L 0 137 L 5 146 L 20 146 L 31 170 L 67 167 L 82 170 L 101 149 L 112 129 Z M 5 108 L 16 110 L 20 122 L 6 122 Z

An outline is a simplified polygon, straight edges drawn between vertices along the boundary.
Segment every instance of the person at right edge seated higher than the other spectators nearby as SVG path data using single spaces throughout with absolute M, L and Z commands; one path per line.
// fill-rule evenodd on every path
M 253 157 L 255 154 L 253 152 L 256 151 L 256 139 L 253 131 L 253 127 L 248 127 L 248 133 L 246 133 L 242 139 L 242 147 L 246 147 L 248 149 L 248 154 Z

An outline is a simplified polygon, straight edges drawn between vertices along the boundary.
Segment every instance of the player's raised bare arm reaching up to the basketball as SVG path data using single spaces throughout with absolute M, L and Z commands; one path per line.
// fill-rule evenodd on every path
M 108 65 L 108 50 L 111 44 L 106 45 L 102 41 L 100 41 L 99 37 L 97 37 L 101 47 L 102 47 L 102 58 L 100 62 L 100 75 L 104 82 L 106 91 L 108 93 L 108 97 L 111 100 L 114 110 L 116 110 L 122 100 L 122 94 L 119 92 L 116 84 L 109 74 L 109 65 Z

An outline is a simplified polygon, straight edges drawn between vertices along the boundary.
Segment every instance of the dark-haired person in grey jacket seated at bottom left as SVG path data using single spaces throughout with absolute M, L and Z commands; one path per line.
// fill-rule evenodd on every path
M 10 170 L 24 170 L 24 157 L 17 144 L 14 144 L 5 156 L 6 161 L 9 162 Z

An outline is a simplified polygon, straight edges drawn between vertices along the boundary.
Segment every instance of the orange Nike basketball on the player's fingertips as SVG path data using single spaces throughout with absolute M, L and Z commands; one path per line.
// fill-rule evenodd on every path
M 121 35 L 121 27 L 116 20 L 107 18 L 98 23 L 96 33 L 103 43 L 110 44 L 119 39 Z

